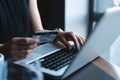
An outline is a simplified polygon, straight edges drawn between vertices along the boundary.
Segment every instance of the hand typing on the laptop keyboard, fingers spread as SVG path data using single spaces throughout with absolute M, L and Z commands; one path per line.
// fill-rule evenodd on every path
M 80 49 L 79 45 L 83 45 L 85 43 L 85 39 L 81 36 L 74 34 L 73 32 L 63 32 L 60 31 L 55 39 L 56 41 L 62 42 L 68 49 L 71 49 L 71 45 L 68 41 L 73 41 L 77 50 Z

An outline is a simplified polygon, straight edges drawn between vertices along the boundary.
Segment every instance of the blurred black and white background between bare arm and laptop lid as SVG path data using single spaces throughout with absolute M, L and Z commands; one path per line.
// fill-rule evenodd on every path
M 38 0 L 45 29 L 62 28 L 87 37 L 99 13 L 112 7 L 113 0 Z

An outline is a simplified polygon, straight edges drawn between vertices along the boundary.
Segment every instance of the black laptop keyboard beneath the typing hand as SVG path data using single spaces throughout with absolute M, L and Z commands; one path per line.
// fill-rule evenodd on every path
M 73 57 L 75 56 L 77 50 L 72 48 L 68 50 L 66 48 L 57 51 L 53 54 L 41 58 L 41 66 L 50 70 L 57 71 L 62 67 L 68 65 Z

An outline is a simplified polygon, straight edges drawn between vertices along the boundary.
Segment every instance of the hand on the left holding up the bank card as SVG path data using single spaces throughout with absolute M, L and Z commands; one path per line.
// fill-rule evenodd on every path
M 36 38 L 15 37 L 2 46 L 3 54 L 14 60 L 25 58 L 37 47 L 39 40 Z

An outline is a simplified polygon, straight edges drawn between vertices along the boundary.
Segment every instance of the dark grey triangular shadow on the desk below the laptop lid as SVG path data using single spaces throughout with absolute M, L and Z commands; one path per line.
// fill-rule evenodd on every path
M 112 76 L 95 66 L 88 64 L 81 70 L 78 70 L 65 80 L 115 80 Z

